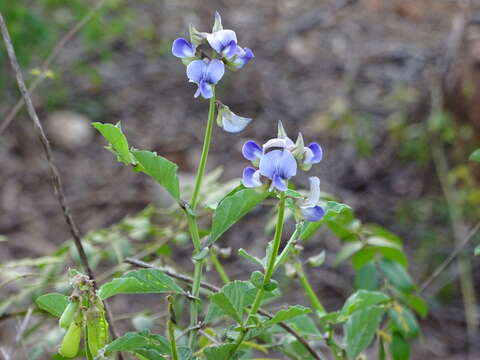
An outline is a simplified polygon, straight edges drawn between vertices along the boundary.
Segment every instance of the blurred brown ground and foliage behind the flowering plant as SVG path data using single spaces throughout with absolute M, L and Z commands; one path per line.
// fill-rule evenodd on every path
M 219 181 L 236 181 L 246 165 L 243 143 L 272 137 L 282 120 L 292 138 L 302 131 L 307 142 L 322 144 L 324 160 L 312 170 L 322 190 L 350 205 L 363 222 L 401 237 L 410 272 L 422 284 L 480 215 L 480 168 L 468 162 L 480 144 L 480 6 L 473 1 L 2 1 L 26 80 L 37 83 L 33 99 L 82 234 L 149 203 L 168 205 L 149 179 L 103 149 L 91 122 L 120 121 L 131 145 L 157 151 L 193 176 L 208 103 L 193 99 L 195 86 L 170 48 L 175 38 L 188 36 L 190 23 L 209 31 L 215 10 L 255 54 L 244 69 L 224 77 L 218 97 L 254 120 L 240 134 L 214 130 L 208 171 L 221 166 Z M 44 72 L 42 63 L 52 54 Z M 70 233 L 32 123 L 24 109 L 12 116 L 19 92 L 3 46 L 0 84 L 5 264 L 46 257 Z M 306 186 L 307 178 L 299 185 Z M 262 251 L 268 234 L 255 229 L 268 218 L 253 214 L 223 237 L 220 246 L 232 248 L 224 260 L 232 278 L 252 271 L 237 249 Z M 478 334 L 471 331 L 480 320 L 480 258 L 471 254 L 479 240 L 474 235 L 464 247 L 466 266 L 454 263 L 425 289 L 430 314 L 413 358 L 467 359 L 471 353 L 467 319 L 470 336 Z M 327 309 L 337 309 L 353 287 L 351 267 L 333 264 L 339 241 L 325 231 L 305 247 L 326 250 L 326 264 L 310 276 Z M 179 241 L 171 252 L 191 268 L 188 242 Z M 461 276 L 474 288 L 462 291 Z M 213 271 L 208 278 L 219 283 Z M 18 289 L 10 290 L 0 289 L 2 312 Z M 288 296 L 304 302 L 295 291 Z M 124 310 L 127 301 L 114 303 L 114 311 Z M 12 321 L 2 318 L 2 341 L 11 335 Z

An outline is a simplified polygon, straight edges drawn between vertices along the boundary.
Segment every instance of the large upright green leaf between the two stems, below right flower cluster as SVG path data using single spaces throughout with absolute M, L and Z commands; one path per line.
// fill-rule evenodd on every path
M 243 189 L 225 197 L 217 206 L 212 220 L 212 231 L 208 245 L 213 244 L 233 224 L 261 203 L 268 192 L 259 193 L 255 189 Z

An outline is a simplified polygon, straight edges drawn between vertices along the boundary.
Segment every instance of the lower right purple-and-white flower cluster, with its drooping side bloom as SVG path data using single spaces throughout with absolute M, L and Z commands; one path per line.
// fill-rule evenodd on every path
M 302 134 L 294 143 L 286 134 L 281 122 L 278 124 L 278 135 L 268 140 L 262 147 L 254 141 L 247 141 L 242 148 L 245 159 L 251 161 L 253 167 L 243 170 L 243 184 L 253 188 L 269 184 L 269 190 L 286 191 L 287 182 L 297 174 L 297 169 L 310 170 L 313 164 L 322 160 L 321 146 L 312 142 L 304 145 Z M 318 205 L 320 200 L 320 179 L 310 177 L 310 194 L 299 203 L 305 219 L 318 221 L 324 210 Z

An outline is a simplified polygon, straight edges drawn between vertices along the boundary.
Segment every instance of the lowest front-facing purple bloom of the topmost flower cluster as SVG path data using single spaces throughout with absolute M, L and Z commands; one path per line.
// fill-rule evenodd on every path
M 194 60 L 187 66 L 187 77 L 190 82 L 198 85 L 194 97 L 202 95 L 205 99 L 213 96 L 213 86 L 217 84 L 225 73 L 223 62 L 217 59 Z

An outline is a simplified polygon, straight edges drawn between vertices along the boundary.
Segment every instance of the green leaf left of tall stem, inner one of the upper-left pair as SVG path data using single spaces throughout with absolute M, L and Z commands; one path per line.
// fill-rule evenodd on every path
M 162 185 L 175 200 L 180 200 L 180 181 L 178 180 L 178 166 L 150 151 L 134 150 L 132 154 L 142 166 L 142 171 Z

